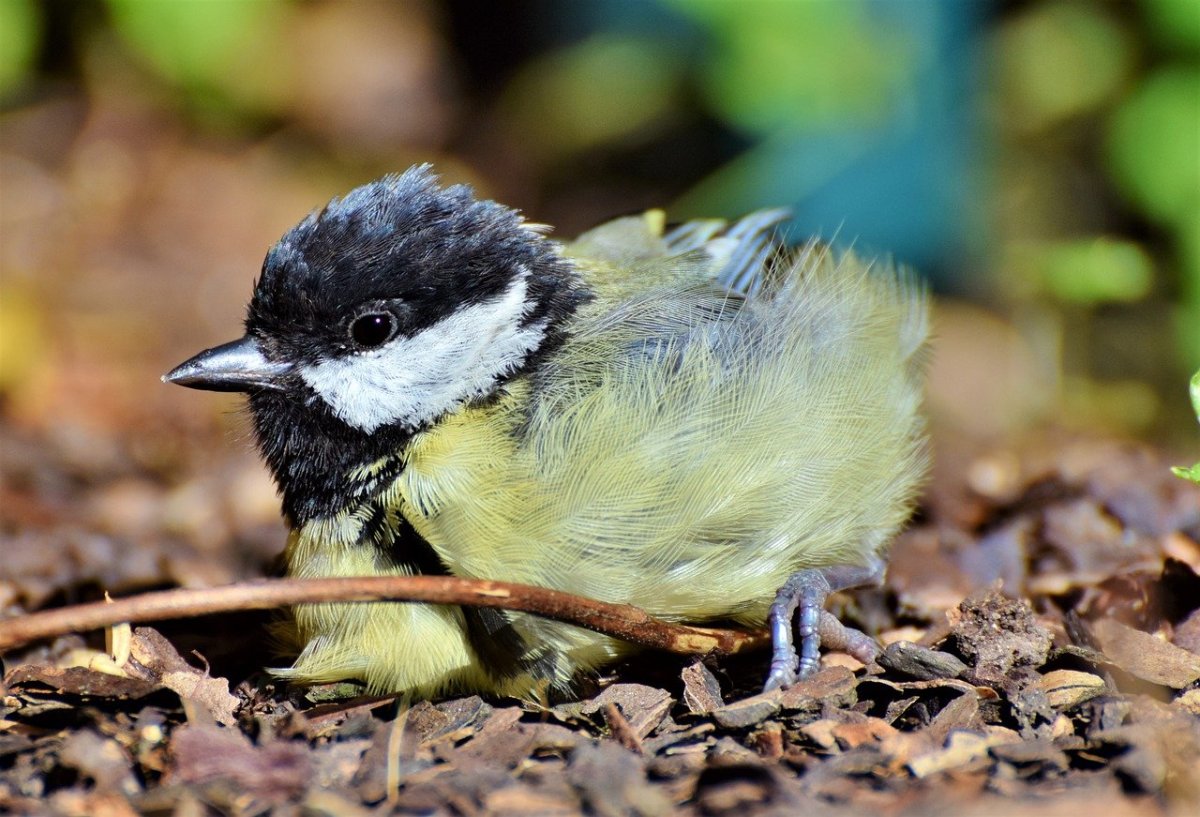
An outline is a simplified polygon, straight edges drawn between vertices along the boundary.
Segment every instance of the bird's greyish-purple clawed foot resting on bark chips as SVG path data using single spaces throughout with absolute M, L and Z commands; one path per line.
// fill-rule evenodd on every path
M 792 573 L 775 594 L 767 623 L 770 626 L 770 669 L 763 691 L 786 689 L 808 678 L 821 666 L 821 647 L 848 653 L 870 663 L 878 653 L 875 639 L 847 627 L 824 609 L 830 593 L 883 581 L 884 564 L 836 565 Z M 792 621 L 799 651 L 792 638 Z

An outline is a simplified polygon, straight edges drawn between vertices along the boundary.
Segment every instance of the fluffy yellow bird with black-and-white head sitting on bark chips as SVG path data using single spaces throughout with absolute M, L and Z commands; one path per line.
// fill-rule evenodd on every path
M 414 166 L 266 253 L 244 337 L 163 380 L 244 392 L 293 577 L 443 575 L 769 629 L 820 667 L 827 596 L 882 582 L 929 468 L 928 296 L 780 238 L 785 210 L 574 241 Z M 874 642 L 856 630 L 856 655 Z M 528 613 L 293 608 L 298 684 L 545 698 L 634 648 Z

